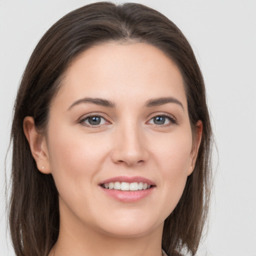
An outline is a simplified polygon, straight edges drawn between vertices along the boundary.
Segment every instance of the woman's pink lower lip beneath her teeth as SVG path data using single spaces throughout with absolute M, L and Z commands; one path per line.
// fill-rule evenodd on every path
M 144 190 L 136 190 L 136 191 L 123 191 L 123 190 L 116 190 L 116 189 L 107 189 L 99 186 L 104 193 L 108 196 L 114 198 L 117 201 L 121 202 L 136 202 L 141 200 L 142 198 L 150 195 L 154 190 L 154 186 L 144 189 Z

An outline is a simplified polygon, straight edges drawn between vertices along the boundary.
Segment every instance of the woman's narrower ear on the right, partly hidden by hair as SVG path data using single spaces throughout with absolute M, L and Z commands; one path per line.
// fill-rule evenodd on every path
M 194 169 L 198 149 L 201 142 L 201 137 L 202 137 L 202 121 L 198 120 L 195 124 L 195 134 L 194 134 L 193 144 L 190 152 L 190 160 L 189 160 L 190 164 L 189 164 L 187 176 L 189 176 Z

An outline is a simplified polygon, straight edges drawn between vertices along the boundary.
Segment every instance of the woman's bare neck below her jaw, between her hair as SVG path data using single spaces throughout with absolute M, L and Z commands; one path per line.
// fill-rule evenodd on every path
M 49 256 L 161 256 L 162 227 L 163 223 L 143 235 L 118 237 L 81 222 L 62 220 L 57 242 Z

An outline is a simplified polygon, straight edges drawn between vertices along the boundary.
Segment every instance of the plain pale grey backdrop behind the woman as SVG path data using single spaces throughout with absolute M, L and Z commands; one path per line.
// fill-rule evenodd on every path
M 209 231 L 198 255 L 256 256 L 256 0 L 133 1 L 176 23 L 204 75 L 218 155 L 215 150 Z M 0 256 L 14 255 L 6 231 L 4 157 L 20 77 L 47 28 L 91 2 L 0 0 Z

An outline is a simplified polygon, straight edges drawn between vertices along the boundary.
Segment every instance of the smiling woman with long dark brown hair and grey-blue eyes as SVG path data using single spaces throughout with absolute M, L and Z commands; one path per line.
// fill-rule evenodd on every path
M 11 138 L 16 255 L 196 253 L 211 127 L 192 49 L 161 13 L 97 2 L 58 20 L 26 66 Z

